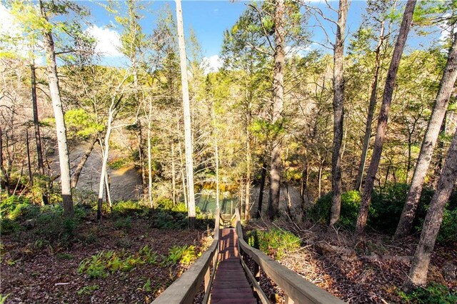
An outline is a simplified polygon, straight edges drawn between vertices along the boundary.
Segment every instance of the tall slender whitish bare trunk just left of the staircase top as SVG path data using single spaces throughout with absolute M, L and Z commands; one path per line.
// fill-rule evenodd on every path
M 188 188 L 188 211 L 189 211 L 189 228 L 195 228 L 195 193 L 194 193 L 194 159 L 192 153 L 192 124 L 191 124 L 191 106 L 189 102 L 189 83 L 187 82 L 187 64 L 186 64 L 186 45 L 184 40 L 183 11 L 181 0 L 176 0 L 176 19 L 178 27 L 178 44 L 179 59 L 181 62 L 181 85 L 183 91 L 183 108 L 184 108 L 184 141 L 186 147 L 186 172 Z

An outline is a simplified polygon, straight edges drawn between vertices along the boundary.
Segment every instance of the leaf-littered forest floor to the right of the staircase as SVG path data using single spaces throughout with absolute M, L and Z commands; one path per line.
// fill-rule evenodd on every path
M 353 233 L 328 230 L 327 227 L 291 221 L 253 221 L 247 229 L 280 228 L 301 238 L 301 248 L 284 254 L 278 261 L 312 283 L 348 303 L 406 303 L 401 292 L 411 265 L 418 238 L 392 240 L 391 236 L 367 233 L 363 243 L 357 243 Z M 354 245 L 356 244 L 356 245 Z M 267 252 L 268 253 L 268 252 Z M 275 250 L 269 253 L 274 258 Z M 437 244 L 431 256 L 428 283 L 447 285 L 456 298 L 457 244 Z M 450 270 L 451 269 L 451 270 Z M 450 273 L 453 272 L 453 273 Z M 281 290 L 268 278 L 261 280 L 263 290 L 278 302 Z M 436 290 L 437 298 L 443 295 Z M 275 295 L 276 294 L 276 295 Z M 429 300 L 421 303 L 431 303 Z M 414 299 L 411 303 L 418 303 Z M 433 303 L 453 303 L 440 298 Z

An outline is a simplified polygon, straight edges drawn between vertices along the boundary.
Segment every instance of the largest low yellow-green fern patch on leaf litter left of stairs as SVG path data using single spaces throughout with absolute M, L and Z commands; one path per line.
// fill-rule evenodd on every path
M 137 253 L 129 255 L 125 250 L 101 251 L 79 263 L 78 273 L 86 274 L 89 278 L 106 278 L 109 273 L 130 271 L 139 265 L 157 263 L 158 255 L 148 245 L 140 248 Z

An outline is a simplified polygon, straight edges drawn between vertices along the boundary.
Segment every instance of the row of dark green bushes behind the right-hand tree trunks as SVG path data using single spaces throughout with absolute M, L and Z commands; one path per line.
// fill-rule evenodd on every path
M 408 195 L 408 184 L 388 183 L 383 188 L 375 188 L 368 209 L 368 227 L 373 230 L 391 234 L 395 233 L 401 212 Z M 421 199 L 416 211 L 413 226 L 420 232 L 426 217 L 428 205 L 433 197 L 433 189 L 423 188 Z M 453 193 L 443 213 L 438 242 L 457 241 L 457 194 Z M 361 195 L 358 191 L 348 191 L 341 195 L 341 218 L 339 226 L 352 230 L 356 226 Z M 328 224 L 330 221 L 331 193 L 318 199 L 308 210 L 307 218 L 315 223 Z

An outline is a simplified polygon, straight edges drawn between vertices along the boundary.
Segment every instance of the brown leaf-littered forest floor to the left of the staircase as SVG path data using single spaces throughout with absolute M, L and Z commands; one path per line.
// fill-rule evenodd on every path
M 5 303 L 151 303 L 187 268 L 181 263 L 164 265 L 169 249 L 194 245 L 197 255 L 206 246 L 202 230 L 160 230 L 151 228 L 150 218 L 141 217 L 128 225 L 119 224 L 119 218 L 104 218 L 101 224 L 89 218 L 94 214 L 85 219 L 70 246 L 24 233 L 20 238 L 2 235 L 0 293 L 8 295 Z M 145 245 L 156 252 L 156 263 L 107 271 L 99 278 L 78 271 L 81 261 L 102 250 L 136 257 Z

